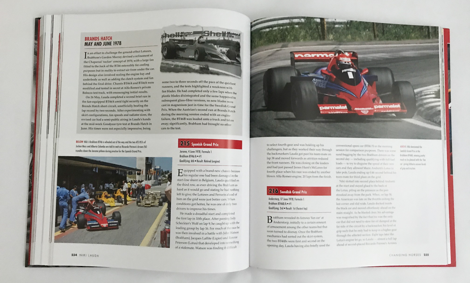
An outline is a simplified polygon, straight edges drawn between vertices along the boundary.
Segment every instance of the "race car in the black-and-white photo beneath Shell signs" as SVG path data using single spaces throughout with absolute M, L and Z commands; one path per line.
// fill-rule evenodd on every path
M 181 58 L 196 61 L 240 63 L 234 50 L 228 49 L 227 55 L 224 55 L 215 45 L 206 43 L 203 36 L 196 40 L 170 38 L 162 44 L 162 55 L 165 59 Z

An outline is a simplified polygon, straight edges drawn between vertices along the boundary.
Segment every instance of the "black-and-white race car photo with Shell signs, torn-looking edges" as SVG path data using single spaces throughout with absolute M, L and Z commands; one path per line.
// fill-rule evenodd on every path
M 241 32 L 219 27 L 164 27 L 160 72 L 242 75 Z

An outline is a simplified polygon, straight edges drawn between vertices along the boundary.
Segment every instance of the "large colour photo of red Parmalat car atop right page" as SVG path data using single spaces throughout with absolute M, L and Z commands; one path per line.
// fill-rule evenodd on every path
M 437 27 L 251 23 L 251 138 L 440 139 Z

